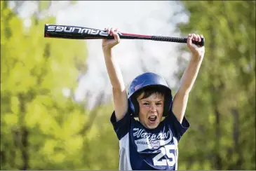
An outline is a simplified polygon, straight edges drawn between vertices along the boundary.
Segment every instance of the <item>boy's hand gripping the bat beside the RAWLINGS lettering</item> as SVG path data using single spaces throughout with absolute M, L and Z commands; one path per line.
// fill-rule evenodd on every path
M 105 31 L 108 32 L 111 36 L 114 36 L 114 39 L 103 39 L 102 40 L 102 49 L 103 50 L 110 50 L 114 46 L 116 46 L 120 42 L 119 34 L 117 34 L 118 29 L 114 29 L 112 27 L 105 28 Z

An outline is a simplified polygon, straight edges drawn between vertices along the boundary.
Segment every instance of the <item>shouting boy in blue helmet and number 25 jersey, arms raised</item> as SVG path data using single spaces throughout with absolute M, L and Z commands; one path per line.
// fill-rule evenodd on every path
M 120 42 L 118 30 L 105 30 L 114 36 L 102 41 L 102 50 L 113 90 L 114 112 L 110 121 L 119 139 L 119 170 L 177 170 L 177 144 L 189 128 L 184 117 L 187 100 L 205 52 L 204 46 L 196 46 L 192 41 L 200 42 L 203 36 L 187 37 L 191 60 L 173 98 L 166 81 L 151 72 L 137 76 L 127 95 L 112 51 Z

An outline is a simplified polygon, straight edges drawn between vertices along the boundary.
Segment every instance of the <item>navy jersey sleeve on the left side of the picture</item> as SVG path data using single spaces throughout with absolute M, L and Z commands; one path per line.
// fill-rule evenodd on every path
M 126 113 L 126 115 L 123 116 L 121 120 L 116 121 L 116 114 L 115 114 L 115 111 L 113 111 L 110 121 L 114 127 L 114 131 L 116 132 L 116 136 L 118 137 L 119 140 L 129 132 L 130 120 L 131 120 L 130 114 Z

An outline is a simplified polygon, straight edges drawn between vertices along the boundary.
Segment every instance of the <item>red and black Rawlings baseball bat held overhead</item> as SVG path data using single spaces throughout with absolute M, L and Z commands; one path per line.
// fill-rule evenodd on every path
M 170 41 L 176 43 L 187 43 L 187 38 L 178 38 L 170 36 L 149 36 L 141 34 L 128 34 L 119 32 L 120 39 L 144 39 L 152 41 Z M 60 39 L 114 39 L 105 30 L 91 29 L 88 27 L 78 27 L 69 25 L 50 25 L 44 26 L 44 37 Z M 192 43 L 204 46 L 204 39 L 201 42 L 192 41 Z

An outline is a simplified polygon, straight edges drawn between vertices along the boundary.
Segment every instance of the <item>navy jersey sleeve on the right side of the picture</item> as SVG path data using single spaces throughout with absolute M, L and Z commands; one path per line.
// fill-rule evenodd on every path
M 173 134 L 176 137 L 177 141 L 180 141 L 182 135 L 189 129 L 190 124 L 187 121 L 187 118 L 184 116 L 182 123 L 177 121 L 176 116 L 173 114 L 173 111 L 170 110 L 168 116 L 166 117 L 166 121 L 170 124 L 170 127 L 173 128 Z

